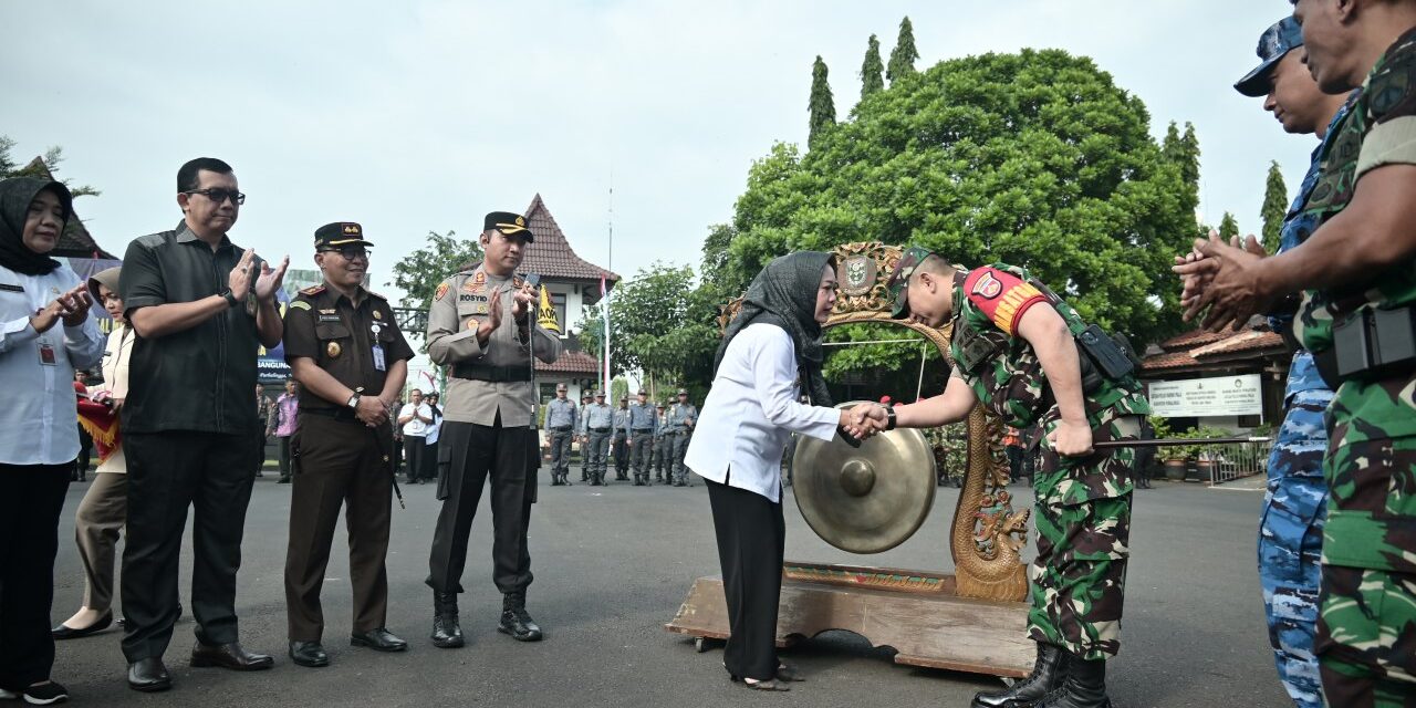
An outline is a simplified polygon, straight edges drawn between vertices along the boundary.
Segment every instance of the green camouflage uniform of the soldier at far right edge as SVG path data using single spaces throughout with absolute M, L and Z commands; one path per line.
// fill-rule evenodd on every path
M 1416 28 L 1376 62 L 1362 96 L 1332 137 L 1308 211 L 1327 219 L 1352 198 L 1368 169 L 1416 163 Z M 1369 140 L 1376 137 L 1375 140 Z M 1403 149 L 1405 143 L 1405 149 Z M 1349 313 L 1416 303 L 1408 261 L 1364 290 L 1304 293 L 1294 324 L 1318 358 Z M 1323 535 L 1321 615 L 1314 649 L 1331 705 L 1416 702 L 1416 371 L 1348 379 L 1328 409 L 1328 520 Z

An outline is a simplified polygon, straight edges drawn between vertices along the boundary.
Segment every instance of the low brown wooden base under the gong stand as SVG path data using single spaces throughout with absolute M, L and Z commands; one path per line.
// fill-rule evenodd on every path
M 789 568 L 810 564 L 787 562 Z M 817 566 L 835 575 L 868 572 L 854 566 Z M 1021 678 L 1032 670 L 1037 644 L 1027 637 L 1028 605 L 959 598 L 953 578 L 918 571 L 882 575 L 929 578 L 937 592 L 892 589 L 844 582 L 782 582 L 777 646 L 789 646 L 828 630 L 847 630 L 872 646 L 893 647 L 895 663 Z M 826 575 L 826 573 L 823 573 Z M 694 581 L 668 632 L 691 637 L 728 639 L 728 606 L 722 579 Z

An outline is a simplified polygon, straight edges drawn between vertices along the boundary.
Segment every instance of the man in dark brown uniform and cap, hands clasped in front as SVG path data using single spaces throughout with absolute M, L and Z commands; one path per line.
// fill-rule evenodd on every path
M 285 358 L 300 382 L 300 430 L 293 440 L 290 539 L 285 599 L 290 658 L 323 667 L 320 588 L 340 507 L 347 506 L 354 624 L 350 643 L 402 651 L 384 627 L 388 616 L 388 525 L 394 467 L 389 412 L 408 378 L 413 350 L 384 296 L 364 289 L 362 228 L 334 222 L 314 232 L 314 262 L 324 283 L 300 290 L 285 313 Z

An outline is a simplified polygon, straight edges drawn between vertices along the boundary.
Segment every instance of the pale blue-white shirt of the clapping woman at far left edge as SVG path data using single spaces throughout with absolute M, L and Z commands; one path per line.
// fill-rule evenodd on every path
M 30 317 L 59 293 L 79 285 L 61 265 L 48 275 L 23 275 L 0 266 L 0 463 L 64 464 L 79 455 L 74 370 L 103 358 L 103 336 L 92 317 L 78 327 L 57 321 L 44 334 Z M 40 360 L 41 347 L 54 364 Z

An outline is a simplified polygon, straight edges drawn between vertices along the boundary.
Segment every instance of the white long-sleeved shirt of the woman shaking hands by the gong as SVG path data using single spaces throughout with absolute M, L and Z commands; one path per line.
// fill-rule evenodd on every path
M 792 433 L 830 440 L 841 422 L 840 411 L 800 404 L 799 395 L 792 337 L 773 324 L 743 327 L 724 353 L 684 464 L 780 501 L 782 450 Z

